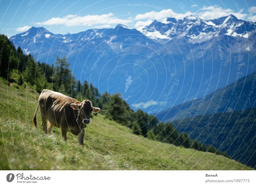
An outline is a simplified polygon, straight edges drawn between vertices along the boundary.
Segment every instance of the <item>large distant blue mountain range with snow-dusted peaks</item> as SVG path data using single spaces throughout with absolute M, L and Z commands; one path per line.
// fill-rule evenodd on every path
M 117 25 L 66 35 L 32 27 L 10 40 L 47 64 L 67 56 L 78 79 L 100 93 L 120 92 L 133 109 L 149 113 L 226 86 L 238 67 L 239 77 L 256 70 L 255 25 L 234 15 L 167 18 L 137 29 Z

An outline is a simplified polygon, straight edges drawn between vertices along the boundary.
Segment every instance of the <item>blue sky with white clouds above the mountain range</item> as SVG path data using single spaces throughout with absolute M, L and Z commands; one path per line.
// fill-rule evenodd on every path
M 10 37 L 45 27 L 54 34 L 73 34 L 117 24 L 137 28 L 168 17 L 216 19 L 229 14 L 255 22 L 256 0 L 0 0 L 0 33 Z

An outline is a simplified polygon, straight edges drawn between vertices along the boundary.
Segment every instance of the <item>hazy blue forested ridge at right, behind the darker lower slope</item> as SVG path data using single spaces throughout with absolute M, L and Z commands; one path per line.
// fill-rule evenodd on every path
M 242 111 L 256 107 L 256 71 L 244 76 L 226 87 L 210 92 L 206 88 L 201 98 L 197 98 L 180 105 L 173 106 L 156 117 L 163 121 L 179 120 L 215 112 Z

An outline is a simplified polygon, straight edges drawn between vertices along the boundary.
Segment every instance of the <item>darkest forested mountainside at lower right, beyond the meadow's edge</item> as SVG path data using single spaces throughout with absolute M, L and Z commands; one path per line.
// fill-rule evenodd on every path
M 255 100 L 255 99 L 254 99 Z M 226 151 L 231 159 L 256 166 L 256 108 L 176 120 L 172 125 L 192 139 Z

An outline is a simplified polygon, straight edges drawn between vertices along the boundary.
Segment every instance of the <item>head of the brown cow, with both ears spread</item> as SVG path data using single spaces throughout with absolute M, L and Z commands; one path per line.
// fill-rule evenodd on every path
M 93 107 L 92 102 L 89 100 L 84 100 L 81 104 L 76 105 L 72 103 L 70 105 L 74 110 L 78 110 L 77 120 L 80 119 L 83 124 L 90 123 L 90 117 L 92 112 L 97 113 L 100 112 L 100 108 Z

